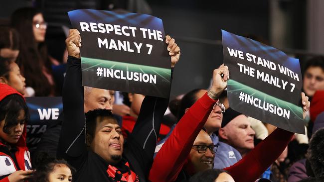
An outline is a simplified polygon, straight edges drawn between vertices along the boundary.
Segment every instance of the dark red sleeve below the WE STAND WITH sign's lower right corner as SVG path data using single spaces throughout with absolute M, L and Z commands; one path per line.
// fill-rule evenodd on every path
M 243 159 L 224 170 L 235 182 L 255 182 L 278 159 L 293 136 L 294 133 L 277 128 Z

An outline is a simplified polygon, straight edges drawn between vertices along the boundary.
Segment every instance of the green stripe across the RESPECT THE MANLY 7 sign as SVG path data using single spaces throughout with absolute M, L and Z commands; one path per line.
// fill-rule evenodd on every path
M 131 72 L 139 72 L 143 74 L 158 75 L 167 83 L 170 83 L 170 76 L 171 76 L 170 69 L 117 62 L 117 61 L 102 60 L 102 59 L 93 59 L 93 58 L 86 58 L 86 57 L 81 57 L 81 60 L 82 60 L 81 63 L 83 65 L 84 64 L 87 65 L 86 67 L 82 67 L 83 68 L 82 71 L 87 71 L 94 67 L 103 67 L 108 69 L 116 69 L 116 70 L 124 70 L 124 71 L 131 71 Z

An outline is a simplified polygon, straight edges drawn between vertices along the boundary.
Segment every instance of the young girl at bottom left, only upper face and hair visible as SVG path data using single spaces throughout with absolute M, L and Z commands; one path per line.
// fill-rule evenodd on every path
M 71 182 L 74 169 L 64 160 L 49 157 L 46 153 L 37 155 L 37 164 L 30 182 Z

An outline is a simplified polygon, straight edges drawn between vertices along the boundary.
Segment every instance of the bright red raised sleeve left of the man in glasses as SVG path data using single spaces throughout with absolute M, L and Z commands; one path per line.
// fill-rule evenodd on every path
M 183 115 L 154 159 L 150 181 L 170 182 L 177 178 L 215 102 L 205 93 Z

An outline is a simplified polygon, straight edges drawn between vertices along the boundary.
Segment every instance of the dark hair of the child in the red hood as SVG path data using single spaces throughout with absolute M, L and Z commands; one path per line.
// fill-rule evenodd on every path
M 21 109 L 25 112 L 25 123 L 28 123 L 28 107 L 21 95 L 11 94 L 0 101 L 0 121 L 4 120 L 2 129 L 4 133 L 9 133 L 9 129 L 18 124 Z

